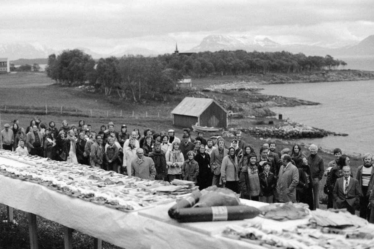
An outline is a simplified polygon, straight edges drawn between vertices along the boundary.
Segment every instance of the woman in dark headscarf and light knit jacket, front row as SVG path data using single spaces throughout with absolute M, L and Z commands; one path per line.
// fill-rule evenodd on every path
M 221 180 L 228 189 L 231 189 L 239 194 L 238 173 L 239 167 L 237 157 L 235 155 L 235 149 L 233 147 L 229 147 L 229 153 L 223 158 L 221 164 Z

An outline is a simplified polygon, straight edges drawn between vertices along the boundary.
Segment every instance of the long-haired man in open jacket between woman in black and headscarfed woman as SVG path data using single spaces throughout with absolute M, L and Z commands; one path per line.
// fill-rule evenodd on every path
M 220 183 L 221 165 L 222 160 L 225 156 L 227 156 L 227 153 L 229 153 L 229 150 L 225 148 L 225 140 L 223 138 L 220 138 L 218 140 L 218 147 L 214 148 L 211 153 L 210 167 L 212 172 L 214 173 L 212 186 L 216 185 L 218 187 L 222 185 L 222 183 Z

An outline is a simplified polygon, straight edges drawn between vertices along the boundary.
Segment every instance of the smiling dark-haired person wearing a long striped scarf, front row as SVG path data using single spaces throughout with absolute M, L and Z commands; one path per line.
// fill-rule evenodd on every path
M 259 200 L 261 194 L 260 177 L 257 165 L 257 156 L 250 153 L 242 157 L 239 162 L 240 179 L 239 186 L 241 190 L 240 197 L 248 200 Z M 265 164 L 265 163 L 264 163 Z

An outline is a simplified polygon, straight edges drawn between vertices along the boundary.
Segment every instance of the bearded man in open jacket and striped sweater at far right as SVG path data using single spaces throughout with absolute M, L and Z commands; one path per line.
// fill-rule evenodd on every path
M 362 161 L 364 161 L 364 165 L 358 166 L 356 172 L 356 179 L 361 187 L 362 196 L 360 197 L 360 217 L 366 220 L 370 220 L 370 209 L 368 208 L 369 205 L 369 196 L 370 191 L 373 191 L 373 183 L 374 183 L 374 167 L 373 163 L 373 156 L 369 153 L 365 154 L 362 157 Z

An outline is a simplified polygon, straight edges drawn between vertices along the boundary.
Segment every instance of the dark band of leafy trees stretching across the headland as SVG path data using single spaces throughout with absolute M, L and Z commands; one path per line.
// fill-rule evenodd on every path
M 88 83 L 105 95 L 118 94 L 135 102 L 163 99 L 185 77 L 248 73 L 295 73 L 346 65 L 327 55 L 305 56 L 289 52 L 246 52 L 244 50 L 200 52 L 190 56 L 165 54 L 157 57 L 127 55 L 93 60 L 82 50 L 64 50 L 48 57 L 47 76 L 63 85 Z

